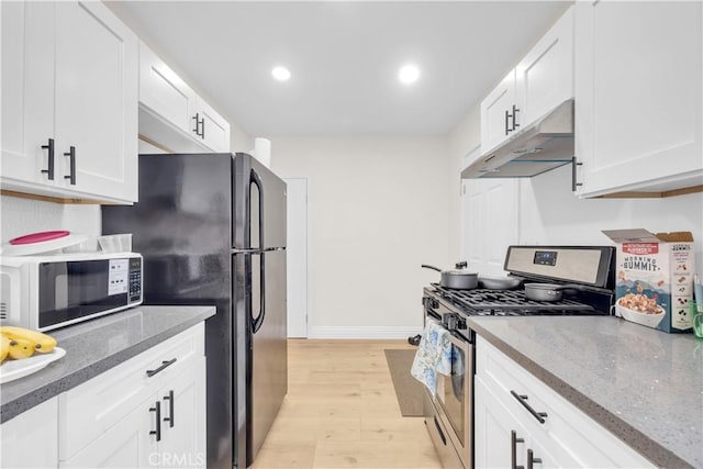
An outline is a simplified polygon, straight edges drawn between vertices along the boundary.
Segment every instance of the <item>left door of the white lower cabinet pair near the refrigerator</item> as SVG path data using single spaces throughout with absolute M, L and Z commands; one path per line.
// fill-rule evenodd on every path
M 126 414 L 90 445 L 59 468 L 146 468 L 156 467 L 156 412 L 154 401 L 147 401 Z M 161 425 L 163 428 L 163 425 Z M 161 434 L 163 438 L 163 434 Z

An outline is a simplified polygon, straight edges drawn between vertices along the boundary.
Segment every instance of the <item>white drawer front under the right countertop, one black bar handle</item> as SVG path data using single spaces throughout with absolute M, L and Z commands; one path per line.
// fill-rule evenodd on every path
M 477 376 L 505 403 L 537 440 L 547 444 L 562 467 L 652 467 L 643 456 L 534 377 L 483 338 L 477 339 Z M 547 416 L 544 423 L 511 393 Z M 551 443 L 549 443 L 549 440 Z

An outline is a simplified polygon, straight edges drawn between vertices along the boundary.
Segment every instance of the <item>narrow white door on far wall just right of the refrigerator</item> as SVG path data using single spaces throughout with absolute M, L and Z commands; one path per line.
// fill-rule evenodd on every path
M 308 337 L 308 179 L 288 185 L 288 336 Z

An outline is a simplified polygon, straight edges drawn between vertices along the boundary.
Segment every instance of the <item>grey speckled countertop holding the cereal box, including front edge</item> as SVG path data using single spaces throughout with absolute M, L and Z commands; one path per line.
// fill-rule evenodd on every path
M 703 467 L 703 340 L 615 316 L 468 324 L 652 464 Z

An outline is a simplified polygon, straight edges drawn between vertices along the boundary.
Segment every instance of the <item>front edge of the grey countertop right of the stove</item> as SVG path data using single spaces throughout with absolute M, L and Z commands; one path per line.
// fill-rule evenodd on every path
M 639 453 L 643 457 L 648 459 L 651 464 L 662 468 L 694 467 L 690 462 L 681 459 L 670 449 L 661 446 L 660 443 L 651 439 L 641 431 L 632 426 L 616 414 L 612 413 L 607 409 L 600 405 L 598 402 L 593 401 L 591 398 L 582 394 L 578 389 L 571 387 L 568 382 L 549 372 L 539 364 L 533 361 L 531 358 L 522 354 L 518 349 L 500 339 L 498 336 L 491 333 L 489 328 L 471 321 L 470 316 L 468 316 L 467 320 L 469 327 L 471 327 L 479 335 L 486 338 L 491 345 L 496 347 L 513 361 L 517 362 L 521 367 L 529 371 L 537 379 L 539 379 L 555 392 L 565 398 L 568 402 L 573 404 L 577 409 L 582 411 L 599 425 L 606 428 L 614 436 L 620 438 L 635 451 Z

